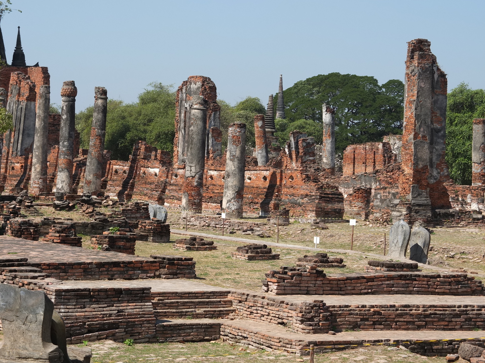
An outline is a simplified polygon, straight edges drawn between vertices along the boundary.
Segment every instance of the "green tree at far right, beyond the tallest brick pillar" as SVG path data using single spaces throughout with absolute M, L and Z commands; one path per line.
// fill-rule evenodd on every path
M 471 185 L 473 119 L 485 117 L 485 90 L 460 83 L 448 93 L 446 110 L 446 162 L 453 181 Z

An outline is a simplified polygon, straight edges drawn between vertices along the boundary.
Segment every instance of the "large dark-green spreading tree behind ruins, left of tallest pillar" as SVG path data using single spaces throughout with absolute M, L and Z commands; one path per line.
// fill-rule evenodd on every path
M 287 120 L 277 121 L 281 136 L 299 126 L 321 142 L 322 137 L 316 135 L 322 129 L 324 103 L 336 109 L 338 152 L 350 144 L 379 141 L 385 135 L 402 133 L 404 84 L 397 79 L 379 85 L 371 76 L 329 73 L 298 81 L 283 95 Z M 298 123 L 293 125 L 294 122 Z M 284 123 L 287 126 L 282 130 Z M 312 127 L 315 129 L 310 132 Z

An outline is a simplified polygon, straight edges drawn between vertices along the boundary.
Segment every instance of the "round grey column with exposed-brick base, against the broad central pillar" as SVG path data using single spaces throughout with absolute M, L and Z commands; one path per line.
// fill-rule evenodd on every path
M 207 102 L 194 95 L 186 130 L 187 156 L 182 190 L 182 210 L 202 212 L 202 187 L 207 134 Z

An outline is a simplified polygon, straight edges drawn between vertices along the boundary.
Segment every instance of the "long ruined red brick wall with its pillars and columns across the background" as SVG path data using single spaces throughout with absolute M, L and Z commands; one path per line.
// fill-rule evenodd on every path
M 269 216 L 287 208 L 292 217 L 304 218 L 341 219 L 346 214 L 429 224 L 481 220 L 484 120 L 473 124 L 472 185 L 455 185 L 445 162 L 447 79 L 430 42 L 409 42 L 405 66 L 403 135 L 348 146 L 341 173 L 335 171 L 335 110 L 329 105 L 323 105 L 321 161 L 314 138 L 305 133 L 294 130 L 289 140 L 277 140 L 273 110 L 266 120 L 263 115 L 255 117 L 253 156 L 242 153 L 240 123 L 231 125 L 231 142 L 223 155 L 216 86 L 204 76 L 190 76 L 178 88 L 173 160 L 169 152 L 144 141 L 134 145 L 128 161 L 111 160 L 110 151 L 103 150 L 107 91 L 100 87 L 95 90 L 93 150 L 80 150 L 79 134 L 70 129 L 77 90 L 67 81 L 61 90 L 63 115 L 51 114 L 47 122 L 43 192 L 30 179 L 35 105 L 42 95 L 40 87 L 49 86 L 49 72 L 46 67 L 5 66 L 0 71 L 5 89 L 0 89 L 0 103 L 14 115 L 14 128 L 3 135 L 0 191 L 12 195 L 27 190 L 51 200 L 55 193 L 72 200 L 89 192 L 195 213 L 222 211 L 236 218 L 242 213 Z M 281 92 L 278 105 L 280 98 Z M 270 101 L 272 108 L 272 97 Z M 284 117 L 284 110 L 279 109 L 276 117 Z

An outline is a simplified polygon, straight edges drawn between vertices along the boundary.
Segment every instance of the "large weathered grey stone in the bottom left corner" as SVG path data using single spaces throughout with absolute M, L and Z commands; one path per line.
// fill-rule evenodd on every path
M 54 304 L 42 291 L 0 284 L 0 359 L 63 362 L 61 349 L 50 340 L 53 310 Z

